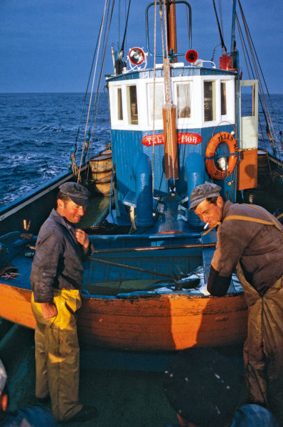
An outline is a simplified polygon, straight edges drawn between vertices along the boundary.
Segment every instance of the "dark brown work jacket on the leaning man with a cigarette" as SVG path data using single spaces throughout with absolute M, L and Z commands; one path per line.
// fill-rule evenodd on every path
M 212 295 L 224 295 L 231 275 L 240 262 L 246 280 L 260 295 L 264 295 L 283 275 L 282 233 L 275 226 L 252 221 L 233 219 L 223 222 L 231 215 L 270 221 L 266 214 L 251 206 L 230 201 L 225 203 L 222 223 L 217 231 L 218 242 L 211 261 L 208 291 Z

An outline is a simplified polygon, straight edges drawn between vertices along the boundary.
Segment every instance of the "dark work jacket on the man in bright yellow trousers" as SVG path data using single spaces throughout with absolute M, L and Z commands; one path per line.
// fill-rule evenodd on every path
M 53 288 L 80 289 L 82 261 L 92 252 L 85 251 L 75 238 L 74 224 L 55 209 L 41 226 L 31 268 L 31 286 L 35 302 L 52 302 Z

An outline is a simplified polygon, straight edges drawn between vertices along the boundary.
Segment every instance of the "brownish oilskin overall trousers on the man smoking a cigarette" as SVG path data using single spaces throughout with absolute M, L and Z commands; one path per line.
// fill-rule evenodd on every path
M 248 399 L 267 406 L 283 425 L 283 276 L 263 296 L 239 263 L 237 276 L 248 305 L 243 352 Z

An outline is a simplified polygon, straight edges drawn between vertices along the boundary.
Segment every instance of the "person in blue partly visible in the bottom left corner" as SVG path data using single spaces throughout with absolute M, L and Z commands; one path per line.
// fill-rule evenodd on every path
M 9 411 L 10 397 L 7 374 L 0 359 L 0 426 L 1 427 L 55 427 L 56 421 L 47 408 L 39 405 L 24 406 Z

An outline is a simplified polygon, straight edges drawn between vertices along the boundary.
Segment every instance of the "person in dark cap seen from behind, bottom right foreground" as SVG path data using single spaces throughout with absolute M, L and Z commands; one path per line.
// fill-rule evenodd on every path
M 193 347 L 173 357 L 164 372 L 164 391 L 179 425 L 279 427 L 266 408 L 241 406 L 241 370 L 211 348 Z

